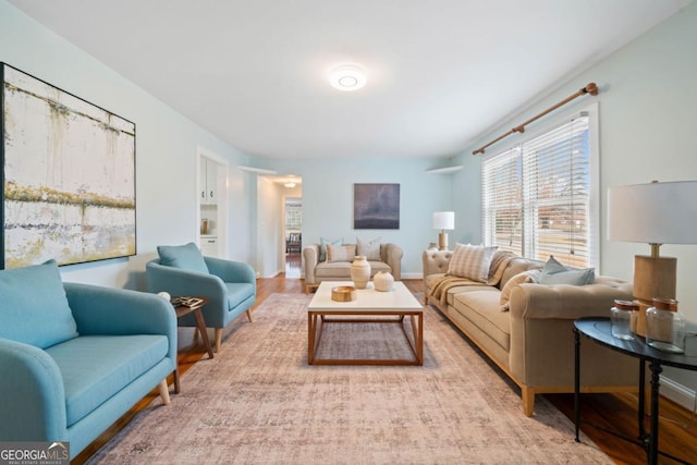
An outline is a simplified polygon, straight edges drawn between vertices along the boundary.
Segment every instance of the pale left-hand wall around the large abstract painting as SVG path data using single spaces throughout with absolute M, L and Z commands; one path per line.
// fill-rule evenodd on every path
M 138 255 L 61 272 L 65 281 L 145 289 L 145 262 L 156 256 L 157 245 L 196 241 L 196 147 L 231 166 L 247 164 L 248 158 L 5 1 L 0 1 L 0 61 L 135 122 Z M 249 176 L 230 172 L 235 235 L 228 249 L 233 258 L 248 259 Z

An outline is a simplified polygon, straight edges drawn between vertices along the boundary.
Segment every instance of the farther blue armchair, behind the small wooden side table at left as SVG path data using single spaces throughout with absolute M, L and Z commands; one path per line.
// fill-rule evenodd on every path
M 216 352 L 220 352 L 222 330 L 250 307 L 257 295 L 254 268 L 240 261 L 204 257 L 194 243 L 158 246 L 159 258 L 148 261 L 148 291 L 168 292 L 172 296 L 208 297 L 201 309 L 206 327 L 215 329 Z M 181 327 L 196 327 L 193 315 L 180 318 Z

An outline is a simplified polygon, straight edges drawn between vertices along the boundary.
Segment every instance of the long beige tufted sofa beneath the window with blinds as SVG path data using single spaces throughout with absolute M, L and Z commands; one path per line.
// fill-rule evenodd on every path
M 505 283 L 545 264 L 510 258 L 502 264 L 498 281 L 492 277 L 496 270 L 490 270 L 491 285 L 487 285 L 445 277 L 452 255 L 424 252 L 426 303 L 436 306 L 521 388 L 527 416 L 533 415 L 535 394 L 574 392 L 574 320 L 609 317 L 614 299 L 632 298 L 631 284 L 609 277 L 596 277 L 587 285 L 521 283 L 506 289 L 510 309 L 504 311 Z M 591 341 L 582 341 L 580 347 L 582 392 L 637 390 L 634 358 Z

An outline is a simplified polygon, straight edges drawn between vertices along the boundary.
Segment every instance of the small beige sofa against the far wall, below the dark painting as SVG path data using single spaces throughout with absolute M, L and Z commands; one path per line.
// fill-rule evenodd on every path
M 380 244 L 380 260 L 369 260 L 370 277 L 378 271 L 390 271 L 395 281 L 402 279 L 402 247 Z M 319 244 L 303 248 L 305 292 L 317 289 L 322 281 L 351 281 L 351 261 L 319 261 Z

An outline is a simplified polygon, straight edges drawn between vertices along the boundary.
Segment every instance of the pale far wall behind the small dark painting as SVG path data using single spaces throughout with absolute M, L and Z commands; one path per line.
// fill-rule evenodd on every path
M 257 166 L 261 168 L 303 178 L 303 245 L 319 243 L 320 237 L 343 237 L 345 243 L 355 243 L 356 237 L 380 237 L 381 242 L 392 242 L 404 249 L 403 278 L 421 277 L 421 253 L 430 242 L 438 241 L 438 231 L 431 228 L 432 213 L 453 207 L 452 175 L 425 172 L 427 169 L 441 167 L 444 162 L 426 157 L 256 160 Z M 399 230 L 353 228 L 355 183 L 400 184 Z M 468 219 L 456 218 L 455 222 L 466 224 Z M 259 234 L 267 235 L 261 232 Z M 453 241 L 451 238 L 454 244 Z

